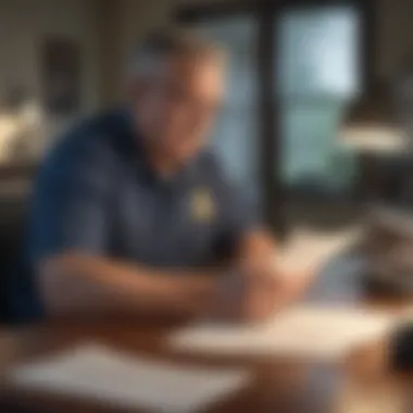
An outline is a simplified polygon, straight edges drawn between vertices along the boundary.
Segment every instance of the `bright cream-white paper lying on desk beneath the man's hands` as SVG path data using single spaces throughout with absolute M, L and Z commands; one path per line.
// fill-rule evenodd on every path
M 356 309 L 297 306 L 261 325 L 198 324 L 171 337 L 185 351 L 221 355 L 276 355 L 336 361 L 384 336 L 395 318 Z

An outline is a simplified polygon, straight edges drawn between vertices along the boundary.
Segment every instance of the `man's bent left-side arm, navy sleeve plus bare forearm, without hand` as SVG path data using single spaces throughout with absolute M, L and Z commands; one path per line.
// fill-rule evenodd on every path
M 116 175 L 105 148 L 87 139 L 52 153 L 35 190 L 29 259 L 47 314 L 202 313 L 213 290 L 206 274 L 105 258 Z

